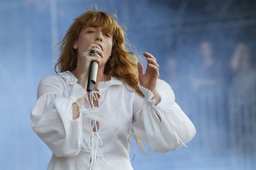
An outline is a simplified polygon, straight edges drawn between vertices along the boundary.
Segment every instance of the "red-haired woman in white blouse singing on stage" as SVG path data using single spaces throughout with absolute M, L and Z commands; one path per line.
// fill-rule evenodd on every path
M 172 88 L 158 79 L 156 58 L 143 53 L 143 74 L 125 29 L 115 15 L 89 8 L 59 43 L 57 73 L 40 81 L 31 110 L 34 132 L 53 152 L 47 169 L 131 170 L 131 134 L 145 154 L 141 141 L 166 153 L 194 137 Z M 87 92 L 93 61 L 96 82 Z

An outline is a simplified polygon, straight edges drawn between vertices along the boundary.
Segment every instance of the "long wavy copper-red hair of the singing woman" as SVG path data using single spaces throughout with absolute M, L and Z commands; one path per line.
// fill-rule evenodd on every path
M 59 45 L 60 57 L 55 64 L 55 72 L 71 72 L 76 69 L 77 50 L 73 48 L 73 45 L 78 40 L 82 28 L 86 25 L 93 27 L 103 26 L 103 31 L 111 32 L 113 34 L 111 56 L 105 64 L 104 74 L 116 77 L 122 81 L 125 86 L 129 85 L 135 92 L 144 97 L 142 91 L 138 87 L 138 59 L 135 53 L 127 50 L 132 50 L 132 48 L 134 48 L 136 51 L 136 48 L 131 45 L 125 37 L 127 31 L 126 27 L 118 24 L 115 14 L 99 11 L 96 6 L 95 8 L 91 7 L 86 9 L 84 14 L 75 18 L 63 40 L 56 45 Z M 140 139 L 134 134 L 133 129 L 130 135 L 134 137 L 140 150 L 147 155 L 143 146 L 144 143 L 142 144 Z M 128 140 L 131 145 L 130 136 L 128 137 Z

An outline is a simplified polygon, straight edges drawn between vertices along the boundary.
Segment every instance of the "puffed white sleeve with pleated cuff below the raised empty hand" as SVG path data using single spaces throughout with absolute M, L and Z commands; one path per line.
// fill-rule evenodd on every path
M 166 82 L 158 79 L 156 90 L 161 101 L 156 106 L 156 100 L 151 100 L 153 93 L 140 85 L 139 87 L 145 97 L 141 101 L 137 94 L 134 96 L 133 130 L 153 152 L 176 150 L 194 137 L 196 129 L 193 123 L 175 103 L 173 90 Z

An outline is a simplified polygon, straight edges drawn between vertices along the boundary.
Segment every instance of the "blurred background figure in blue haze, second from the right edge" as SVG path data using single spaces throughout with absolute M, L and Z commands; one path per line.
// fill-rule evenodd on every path
M 226 120 L 222 85 L 221 61 L 209 40 L 198 45 L 198 57 L 190 71 L 190 104 L 197 110 L 196 120 L 200 136 L 197 144 L 213 150 L 225 147 Z M 221 141 L 221 142 L 220 142 Z M 218 143 L 218 145 L 217 145 Z

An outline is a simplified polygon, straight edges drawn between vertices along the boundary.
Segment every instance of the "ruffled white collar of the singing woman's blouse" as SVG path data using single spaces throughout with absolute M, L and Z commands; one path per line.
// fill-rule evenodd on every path
M 56 73 L 56 75 L 59 75 L 62 77 L 62 79 L 67 83 L 67 84 L 71 84 L 74 85 L 75 83 L 77 83 L 78 79 L 70 72 L 70 71 L 66 71 L 66 72 L 61 72 L 61 73 Z M 112 85 L 122 85 L 123 82 L 121 82 L 120 80 L 118 80 L 116 77 L 111 77 L 110 81 L 107 82 L 99 82 L 97 88 L 98 90 L 103 90 L 105 88 L 108 88 Z

